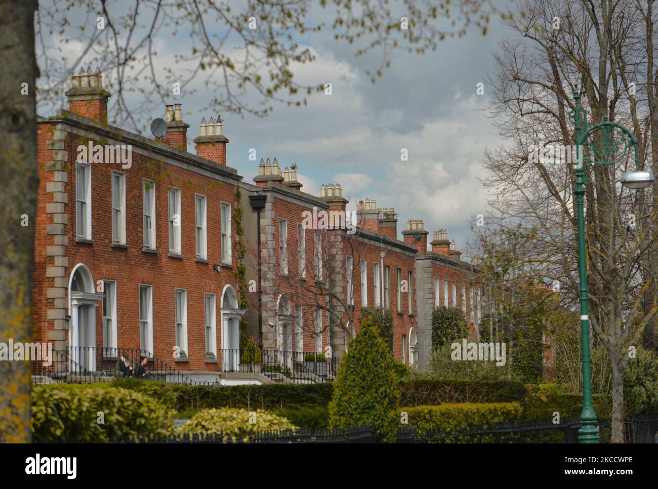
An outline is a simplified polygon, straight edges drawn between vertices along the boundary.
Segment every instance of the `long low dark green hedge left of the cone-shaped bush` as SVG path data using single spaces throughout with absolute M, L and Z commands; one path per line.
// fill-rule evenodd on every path
M 187 386 L 144 381 L 133 378 L 114 380 L 113 386 L 136 390 L 157 399 L 163 405 L 183 413 L 207 407 L 243 407 L 278 409 L 324 406 L 332 398 L 333 385 L 265 384 L 243 386 Z

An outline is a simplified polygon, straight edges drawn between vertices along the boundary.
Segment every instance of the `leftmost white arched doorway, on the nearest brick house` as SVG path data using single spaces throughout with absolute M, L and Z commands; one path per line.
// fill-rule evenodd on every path
M 68 358 L 71 372 L 96 370 L 96 307 L 103 299 L 93 288 L 93 277 L 82 263 L 68 279 Z

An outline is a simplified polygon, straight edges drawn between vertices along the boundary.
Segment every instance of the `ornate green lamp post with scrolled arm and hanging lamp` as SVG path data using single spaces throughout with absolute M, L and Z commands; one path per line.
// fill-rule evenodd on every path
M 588 124 L 587 117 L 580 108 L 580 93 L 574 86 L 575 109 L 570 112 L 576 128 L 576 212 L 578 213 L 578 276 L 580 277 L 580 346 L 582 358 L 582 411 L 580 421 L 582 428 L 578 431 L 580 443 L 598 443 L 599 428 L 596 425 L 596 413 L 592 403 L 592 362 L 590 360 L 590 326 L 588 313 L 587 286 L 587 255 L 585 244 L 584 199 L 585 184 L 591 182 L 587 173 L 595 168 L 617 163 L 617 153 L 625 158 L 626 151 L 631 149 L 635 155 L 635 170 L 621 176 L 623 186 L 631 189 L 647 188 L 653 182 L 653 172 L 642 171 L 638 160 L 638 142 L 633 134 L 617 122 L 609 122 L 607 116 L 599 124 Z M 617 139 L 615 131 L 619 132 Z M 588 143 L 588 138 L 595 132 L 600 136 L 594 143 Z M 583 147 L 590 146 L 590 157 L 584 157 Z M 588 163 L 585 168 L 583 161 Z

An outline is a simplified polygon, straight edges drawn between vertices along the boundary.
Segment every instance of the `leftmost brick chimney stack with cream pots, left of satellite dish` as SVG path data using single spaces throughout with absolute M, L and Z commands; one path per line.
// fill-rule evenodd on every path
M 103 74 L 96 67 L 91 72 L 91 66 L 80 68 L 79 73 L 72 76 L 72 86 L 64 93 L 68 97 L 68 110 L 74 114 L 88 117 L 107 124 L 107 99 L 111 96 L 103 88 Z

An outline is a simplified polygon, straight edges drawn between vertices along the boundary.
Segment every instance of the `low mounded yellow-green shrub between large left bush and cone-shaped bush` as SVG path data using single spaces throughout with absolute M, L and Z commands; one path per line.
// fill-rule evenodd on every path
M 228 435 L 241 436 L 247 441 L 250 431 L 293 429 L 295 426 L 290 421 L 274 413 L 262 409 L 249 411 L 233 407 L 203 409 L 178 428 L 181 434 L 224 434 L 224 441 Z

